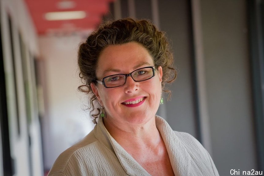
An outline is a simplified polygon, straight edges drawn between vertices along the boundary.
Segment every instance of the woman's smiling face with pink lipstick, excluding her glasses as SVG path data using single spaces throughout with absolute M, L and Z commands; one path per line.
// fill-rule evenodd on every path
M 107 46 L 100 54 L 96 69 L 98 80 L 114 74 L 128 74 L 132 71 L 154 66 L 148 51 L 139 43 Z M 162 68 L 149 80 L 135 82 L 127 77 L 126 84 L 116 88 L 105 88 L 102 84 L 91 84 L 101 106 L 107 113 L 107 121 L 114 124 L 140 125 L 155 117 L 161 97 Z M 142 100 L 143 98 L 143 100 Z M 142 101 L 140 101 L 142 100 Z M 128 104 L 135 101 L 136 104 Z M 140 101 L 139 103 L 137 103 Z

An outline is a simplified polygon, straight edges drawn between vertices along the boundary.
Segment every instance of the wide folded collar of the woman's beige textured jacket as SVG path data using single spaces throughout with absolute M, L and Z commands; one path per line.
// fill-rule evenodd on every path
M 169 159 L 175 176 L 189 176 L 190 155 L 169 124 L 161 117 L 155 117 L 156 126 L 167 148 Z M 123 169 L 128 175 L 150 175 L 141 165 L 122 148 L 104 126 L 103 119 L 98 119 L 94 128 L 95 137 L 106 148 L 115 153 Z

